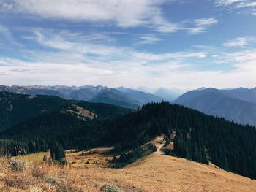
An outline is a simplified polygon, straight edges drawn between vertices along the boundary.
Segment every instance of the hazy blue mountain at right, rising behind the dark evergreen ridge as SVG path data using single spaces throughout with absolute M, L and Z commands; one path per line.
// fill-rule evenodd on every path
M 255 98 L 256 93 L 253 89 L 217 90 L 207 88 L 184 93 L 173 102 L 192 107 L 208 115 L 216 115 L 236 123 L 256 126 Z

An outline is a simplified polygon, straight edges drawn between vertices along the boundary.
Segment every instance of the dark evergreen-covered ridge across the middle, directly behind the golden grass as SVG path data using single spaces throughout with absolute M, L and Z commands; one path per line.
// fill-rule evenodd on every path
M 173 139 L 173 155 L 213 164 L 256 178 L 256 130 L 167 102 L 146 104 L 116 118 L 84 121 L 51 112 L 2 131 L 1 151 L 15 155 L 47 150 L 53 142 L 81 150 L 112 145 L 119 153 L 138 147 L 159 134 Z

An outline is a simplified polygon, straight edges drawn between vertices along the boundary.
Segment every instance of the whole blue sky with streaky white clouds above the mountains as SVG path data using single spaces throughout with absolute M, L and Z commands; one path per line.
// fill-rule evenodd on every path
M 1 85 L 256 87 L 255 0 L 0 0 Z

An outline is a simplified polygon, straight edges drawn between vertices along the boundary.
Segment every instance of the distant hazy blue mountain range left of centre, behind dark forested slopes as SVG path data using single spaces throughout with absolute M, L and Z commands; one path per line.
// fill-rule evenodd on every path
M 105 86 L 0 86 L 0 91 L 11 93 L 35 95 L 59 96 L 63 99 L 75 99 L 79 101 L 101 102 L 115 104 L 120 107 L 138 109 L 143 104 L 154 101 L 167 100 L 160 96 L 131 88 L 108 88 Z

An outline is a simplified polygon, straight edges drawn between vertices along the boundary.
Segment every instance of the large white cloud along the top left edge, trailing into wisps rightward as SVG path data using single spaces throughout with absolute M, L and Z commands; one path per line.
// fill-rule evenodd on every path
M 204 32 L 208 26 L 217 23 L 214 18 L 198 19 L 195 20 L 195 27 L 192 29 L 184 26 L 183 21 L 172 23 L 164 17 L 162 6 L 165 3 L 170 3 L 170 1 L 2 0 L 0 12 L 12 11 L 14 14 L 20 13 L 31 16 L 31 18 L 91 22 L 97 23 L 99 26 L 146 27 L 161 33 L 173 33 L 181 30 L 192 31 L 192 33 Z

